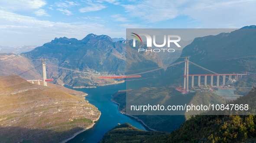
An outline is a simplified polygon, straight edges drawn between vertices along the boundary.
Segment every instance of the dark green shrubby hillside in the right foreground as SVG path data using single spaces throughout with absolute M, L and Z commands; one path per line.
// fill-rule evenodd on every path
M 118 131 L 114 129 L 109 131 L 104 135 L 101 142 L 108 142 L 114 137 L 119 136 L 120 138 L 115 138 L 116 142 L 129 140 L 130 142 L 141 143 L 254 143 L 256 142 L 255 98 L 256 88 L 253 88 L 246 96 L 231 102 L 231 104 L 248 103 L 250 107 L 254 109 L 250 113 L 252 115 L 196 115 L 192 116 L 181 124 L 180 128 L 168 135 L 154 135 L 151 132 L 152 135 L 148 138 L 146 138 L 146 131 L 136 130 L 136 132 L 130 132 L 130 128 L 133 127 L 119 125 L 115 127 L 119 128 Z M 129 136 L 126 136 L 126 134 L 129 134 Z M 131 134 L 134 134 L 134 136 Z M 138 139 L 137 134 L 143 135 Z M 150 132 L 148 134 L 150 134 Z

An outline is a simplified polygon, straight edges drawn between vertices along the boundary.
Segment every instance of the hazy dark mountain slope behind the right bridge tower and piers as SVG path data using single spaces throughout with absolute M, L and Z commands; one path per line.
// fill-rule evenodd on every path
M 244 79 L 237 83 L 240 83 L 239 86 L 241 87 L 253 87 L 256 85 L 256 77 L 254 74 L 256 73 L 255 45 L 256 29 L 255 25 L 251 25 L 230 33 L 197 37 L 191 44 L 182 50 L 181 57 L 190 56 L 189 60 L 191 62 L 219 74 L 241 74 L 250 72 L 251 74 L 247 76 L 247 79 L 249 80 L 246 83 L 243 82 Z M 182 60 L 184 59 L 180 58 L 175 62 Z M 171 72 L 175 71 L 172 71 L 172 67 L 169 67 L 165 71 L 165 74 Z M 189 74 L 197 75 L 212 73 L 190 64 Z M 182 73 L 180 73 L 180 80 L 182 78 L 181 76 Z M 215 78 L 214 82 L 216 81 Z M 174 79 L 177 80 L 178 76 L 169 76 L 166 81 L 172 81 Z M 181 83 L 182 81 L 178 82 Z M 191 82 L 189 86 L 191 86 Z

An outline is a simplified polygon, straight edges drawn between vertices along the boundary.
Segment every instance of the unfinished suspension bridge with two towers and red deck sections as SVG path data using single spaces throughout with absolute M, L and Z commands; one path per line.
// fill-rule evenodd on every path
M 162 69 L 166 69 L 168 67 L 174 67 L 175 65 L 181 65 L 181 63 L 184 63 L 185 62 L 185 66 L 184 66 L 184 86 L 183 88 L 179 87 L 177 88 L 177 90 L 183 92 L 183 93 L 186 93 L 186 92 L 189 92 L 189 88 L 188 88 L 188 85 L 189 85 L 189 77 L 191 77 L 191 86 L 190 87 L 194 87 L 194 78 L 197 77 L 198 78 L 198 87 L 200 86 L 211 86 L 211 87 L 219 87 L 220 86 L 220 77 L 222 77 L 222 86 L 226 85 L 226 84 L 230 84 L 232 83 L 233 81 L 237 81 L 239 79 L 242 78 L 243 75 L 247 75 L 247 72 L 246 74 L 238 74 L 238 73 L 232 73 L 232 74 L 218 74 L 216 72 L 213 72 L 207 68 L 204 68 L 200 65 L 197 65 L 195 64 L 194 62 L 191 62 L 189 61 L 189 57 L 181 57 L 181 58 L 185 58 L 184 61 L 180 61 L 180 62 L 176 62 L 176 63 L 172 63 L 170 65 L 167 65 L 167 66 L 163 66 L 163 67 L 152 67 L 152 68 L 155 68 L 155 69 L 152 69 L 152 68 L 143 68 L 143 69 L 136 69 L 136 70 L 131 70 L 131 71 L 143 71 L 143 70 L 146 70 L 146 71 L 143 71 L 143 72 L 137 72 L 137 73 L 134 73 L 134 74 L 130 74 L 130 75 L 115 75 L 115 74 L 110 74 L 111 72 L 108 72 L 107 74 L 100 74 L 100 72 L 89 72 L 89 71 L 82 71 L 82 70 L 77 70 L 77 69 L 71 69 L 71 68 L 63 68 L 63 67 L 59 67 L 59 66 L 55 66 L 55 65 L 51 65 L 51 64 L 48 64 L 49 66 L 51 67 L 55 67 L 55 68 L 59 68 L 59 69 L 64 69 L 64 70 L 69 70 L 69 71 L 73 71 L 73 72 L 80 72 L 80 73 L 85 73 L 85 74 L 89 74 L 89 75 L 98 75 L 100 76 L 100 78 L 141 78 L 142 75 L 144 74 L 147 74 L 147 73 L 152 73 L 152 72 L 155 72 L 155 71 L 159 71 L 159 70 L 162 70 Z M 40 84 L 40 81 L 43 81 L 44 83 L 44 86 L 47 86 L 47 83 L 46 81 L 53 81 L 53 79 L 47 79 L 46 78 L 46 68 L 45 68 L 45 60 L 47 59 L 36 59 L 36 60 L 42 60 L 42 68 L 43 68 L 43 79 L 40 79 L 40 80 L 27 80 L 27 81 L 32 81 L 32 83 L 34 83 L 34 81 L 38 81 L 38 84 Z M 210 72 L 211 74 L 196 74 L 196 75 L 189 75 L 189 64 L 191 65 L 195 65 L 197 66 L 198 68 L 201 68 L 203 69 L 204 71 L 207 71 L 207 72 Z M 39 67 L 40 65 L 34 67 L 34 68 L 37 68 Z M 182 65 L 181 65 L 182 66 Z M 31 68 L 29 70 L 32 70 L 34 68 Z M 181 67 L 179 67 L 181 68 Z M 183 68 L 182 68 L 183 69 Z M 25 72 L 28 72 L 29 70 L 25 71 Z M 183 71 L 183 70 L 182 70 Z M 21 75 L 25 72 L 22 72 L 18 75 Z M 119 71 L 119 72 L 123 72 L 123 73 L 126 73 L 126 72 L 129 72 L 129 71 Z M 232 78 L 233 76 L 233 78 Z M 204 77 L 204 84 L 201 85 L 201 77 Z M 211 77 L 211 82 L 210 84 L 208 85 L 207 84 L 207 77 Z M 217 77 L 217 80 L 216 80 L 216 84 L 214 85 L 214 77 Z M 227 81 L 227 83 L 226 83 Z

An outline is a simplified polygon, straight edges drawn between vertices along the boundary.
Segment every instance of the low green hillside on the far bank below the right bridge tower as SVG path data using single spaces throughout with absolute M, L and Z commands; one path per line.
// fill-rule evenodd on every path
M 126 94 L 129 92 L 129 98 L 126 99 Z M 142 87 L 136 90 L 121 90 L 113 94 L 112 100 L 119 103 L 119 110 L 126 114 L 126 102 L 132 102 L 134 105 L 147 105 L 141 104 L 145 101 L 150 105 L 208 105 L 209 103 L 225 103 L 224 99 L 220 98 L 214 93 L 189 93 L 186 95 L 181 94 L 174 88 L 169 87 Z M 159 112 L 159 111 L 156 111 Z M 194 114 L 199 114 L 195 112 Z M 185 111 L 173 112 L 172 115 L 168 115 L 169 112 L 163 112 L 162 115 L 133 115 L 136 118 L 142 120 L 150 128 L 157 131 L 171 132 L 177 129 L 182 124 L 187 116 Z M 186 116 L 185 116 L 186 115 Z

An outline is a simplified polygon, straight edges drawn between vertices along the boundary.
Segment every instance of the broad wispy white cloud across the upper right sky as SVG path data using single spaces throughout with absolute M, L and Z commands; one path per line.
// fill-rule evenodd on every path
M 237 28 L 256 23 L 255 0 L 142 0 L 133 3 L 121 6 L 131 17 L 149 23 L 179 16 L 198 20 L 204 28 Z

